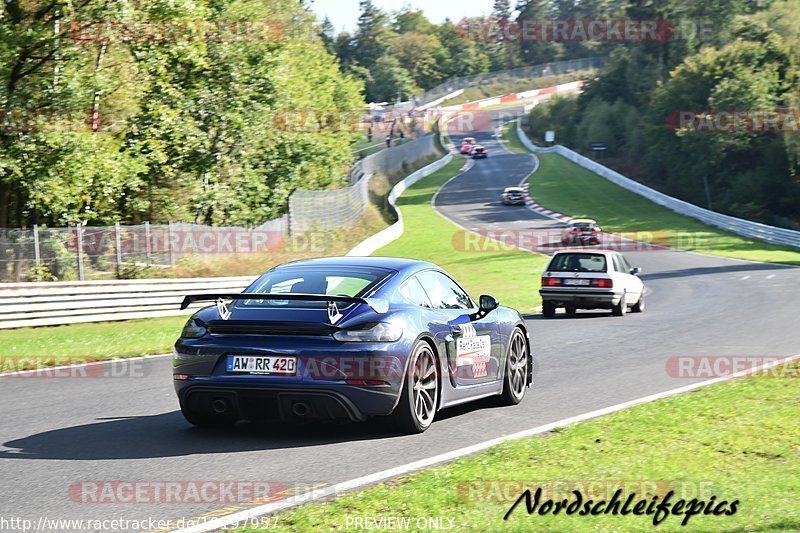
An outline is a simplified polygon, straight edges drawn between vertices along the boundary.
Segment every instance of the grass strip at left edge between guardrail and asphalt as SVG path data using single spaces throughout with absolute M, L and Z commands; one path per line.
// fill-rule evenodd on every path
M 188 316 L 188 315 L 187 315 Z M 3 357 L 88 360 L 167 353 L 187 316 L 0 330 Z

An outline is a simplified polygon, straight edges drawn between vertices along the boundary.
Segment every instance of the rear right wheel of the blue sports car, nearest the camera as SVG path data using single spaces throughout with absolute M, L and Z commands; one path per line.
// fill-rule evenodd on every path
M 429 375 L 431 368 L 433 374 Z M 432 388 L 429 387 L 431 383 Z M 439 365 L 436 354 L 430 344 L 418 341 L 411 350 L 403 390 L 400 392 L 397 407 L 389 415 L 390 422 L 394 429 L 399 429 L 402 433 L 422 433 L 433 423 L 438 408 Z

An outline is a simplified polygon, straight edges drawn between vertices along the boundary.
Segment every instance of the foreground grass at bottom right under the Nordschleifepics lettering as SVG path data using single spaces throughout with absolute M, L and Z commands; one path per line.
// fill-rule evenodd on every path
M 278 515 L 277 525 L 283 531 L 330 531 L 346 529 L 348 517 L 433 516 L 453 518 L 453 531 L 798 531 L 798 410 L 796 378 L 733 380 L 305 505 Z M 511 485 L 508 497 L 494 492 L 487 501 L 488 488 L 508 487 L 504 482 L 518 485 Z M 608 496 L 587 489 L 596 487 L 593 482 L 611 487 Z M 716 496 L 716 502 L 739 504 L 732 516 L 693 516 L 686 526 L 678 516 L 658 528 L 652 516 L 529 516 L 524 502 L 504 521 L 519 486 L 555 488 L 559 495 L 565 486 L 583 488 L 595 500 L 608 499 L 619 487 L 626 496 L 645 493 L 661 501 L 673 489 L 673 503 Z

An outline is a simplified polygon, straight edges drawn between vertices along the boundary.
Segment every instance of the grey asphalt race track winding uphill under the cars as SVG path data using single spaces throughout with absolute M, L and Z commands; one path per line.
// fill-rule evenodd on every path
M 499 201 L 504 187 L 528 175 L 533 158 L 505 152 L 492 131 L 477 137 L 489 158 L 450 181 L 436 208 L 470 229 L 558 228 Z M 69 489 L 83 480 L 333 484 L 692 383 L 667 373 L 674 356 L 800 352 L 790 333 L 797 326 L 800 269 L 672 250 L 626 255 L 644 269 L 643 314 L 531 316 L 537 374 L 525 401 L 450 409 L 419 436 L 394 436 L 376 423 L 193 428 L 178 411 L 168 358 L 114 365 L 120 377 L 0 378 L 0 515 L 34 521 L 197 516 L 228 505 L 86 504 L 72 501 Z M 538 284 L 531 272 L 520 290 L 533 293 Z

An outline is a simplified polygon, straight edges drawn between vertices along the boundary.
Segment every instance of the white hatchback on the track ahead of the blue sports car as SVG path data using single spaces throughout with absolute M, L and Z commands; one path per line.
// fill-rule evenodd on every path
M 615 316 L 624 316 L 629 307 L 641 313 L 641 272 L 611 250 L 556 252 L 542 275 L 542 315 L 554 316 L 557 307 L 564 307 L 568 315 L 578 309 L 611 309 Z

